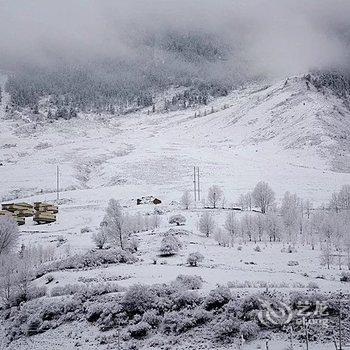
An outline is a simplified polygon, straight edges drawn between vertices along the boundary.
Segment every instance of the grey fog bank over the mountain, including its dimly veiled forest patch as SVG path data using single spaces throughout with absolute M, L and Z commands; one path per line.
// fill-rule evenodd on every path
M 3 0 L 0 67 L 26 81 L 79 72 L 74 84 L 98 80 L 128 96 L 194 81 L 230 88 L 261 77 L 347 71 L 348 13 L 350 3 L 340 0 Z M 69 90 L 39 85 L 33 89 Z

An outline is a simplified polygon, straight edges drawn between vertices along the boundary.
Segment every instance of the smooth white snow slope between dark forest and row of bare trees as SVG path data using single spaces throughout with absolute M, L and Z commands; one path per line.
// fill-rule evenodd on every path
M 63 196 L 81 204 L 149 194 L 178 199 L 192 188 L 194 165 L 203 192 L 217 183 L 230 202 L 259 180 L 278 196 L 290 190 L 317 202 L 350 182 L 350 112 L 303 77 L 236 90 L 200 110 L 47 123 L 6 119 L 3 107 L 4 200 L 55 198 L 56 165 Z

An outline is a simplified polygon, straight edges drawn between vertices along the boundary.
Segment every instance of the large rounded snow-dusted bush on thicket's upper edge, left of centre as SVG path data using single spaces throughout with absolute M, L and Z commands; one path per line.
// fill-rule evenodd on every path
M 152 307 L 155 300 L 156 296 L 150 287 L 136 284 L 127 290 L 122 305 L 129 315 L 143 314 Z

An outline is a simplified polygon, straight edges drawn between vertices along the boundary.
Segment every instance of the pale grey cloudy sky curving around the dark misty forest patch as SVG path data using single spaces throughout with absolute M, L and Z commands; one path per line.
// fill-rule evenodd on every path
M 199 31 L 257 74 L 348 68 L 349 14 L 348 0 L 0 0 L 0 65 L 131 58 L 146 37 Z

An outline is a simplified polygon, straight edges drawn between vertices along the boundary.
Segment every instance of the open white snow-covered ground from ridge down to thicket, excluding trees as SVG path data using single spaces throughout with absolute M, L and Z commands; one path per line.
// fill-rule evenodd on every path
M 2 202 L 55 201 L 57 165 L 60 171 L 57 222 L 38 226 L 27 219 L 20 229 L 21 244 L 52 245 L 62 256 L 83 253 L 94 247 L 91 237 L 98 231 L 110 198 L 134 214 L 153 214 L 155 207 L 137 206 L 137 198 L 153 195 L 162 200 L 160 227 L 138 234 L 137 263 L 53 272 L 55 286 L 83 283 L 84 278 L 95 282 L 114 279 L 121 286 L 169 283 L 186 274 L 202 277 L 203 294 L 217 285 L 265 290 L 266 281 L 273 290 L 307 290 L 310 283 L 316 283 L 322 292 L 348 291 L 348 285 L 339 282 L 336 267 L 320 266 L 318 249 L 300 244 L 295 253 L 288 254 L 281 251 L 282 243 L 270 242 L 243 244 L 242 250 L 237 249 L 238 243 L 222 247 L 198 230 L 203 203 L 190 210 L 177 203 L 184 190 L 192 190 L 193 166 L 200 168 L 202 198 L 217 184 L 224 191 L 226 206 L 236 204 L 239 195 L 260 180 L 271 185 L 278 200 L 288 190 L 316 206 L 326 203 L 334 191 L 350 183 L 346 172 L 350 144 L 339 141 L 350 132 L 350 118 L 340 118 L 349 112 L 330 93 L 309 90 L 302 78 L 291 78 L 270 87 L 234 91 L 200 110 L 81 115 L 53 123 L 19 114 L 6 117 L 4 106 L 0 110 Z M 199 111 L 200 116 L 195 117 Z M 217 223 L 224 222 L 227 210 L 212 212 Z M 171 227 L 168 218 L 176 213 L 186 217 L 183 228 L 190 233 L 180 237 L 183 249 L 179 254 L 158 257 L 161 239 Z M 84 227 L 89 232 L 82 233 Z M 256 245 L 261 252 L 255 251 Z M 205 259 L 199 267 L 189 267 L 187 256 L 196 251 Z M 288 266 L 290 260 L 299 265 Z M 35 283 L 44 285 L 45 276 Z M 48 338 L 38 335 L 10 349 L 47 348 L 47 339 L 52 340 L 50 349 L 73 349 L 77 342 L 83 349 L 95 349 L 97 331 L 90 328 L 81 324 L 61 327 L 45 333 Z M 253 343 L 244 349 L 258 346 Z M 277 340 L 269 349 L 284 347 Z M 311 345 L 310 349 L 333 349 L 333 344 Z

